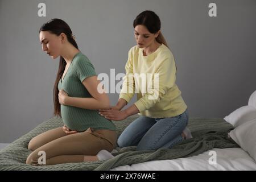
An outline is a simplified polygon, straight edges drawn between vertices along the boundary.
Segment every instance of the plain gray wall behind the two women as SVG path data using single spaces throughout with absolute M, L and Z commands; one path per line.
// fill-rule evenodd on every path
M 47 16 L 38 16 L 45 2 Z M 210 18 L 208 5 L 217 4 Z M 97 73 L 125 73 L 135 45 L 133 20 L 154 10 L 174 53 L 177 85 L 191 117 L 224 117 L 247 105 L 256 89 L 256 1 L 86 0 L 0 1 L 0 143 L 9 143 L 53 115 L 52 89 L 59 59 L 40 47 L 49 19 L 71 26 Z M 109 94 L 112 104 L 118 94 Z M 135 101 L 135 98 L 133 99 Z

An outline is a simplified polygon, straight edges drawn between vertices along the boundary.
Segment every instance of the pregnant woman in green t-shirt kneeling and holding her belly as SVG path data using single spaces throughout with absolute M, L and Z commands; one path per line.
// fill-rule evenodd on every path
M 27 164 L 39 165 L 39 152 L 46 154 L 46 165 L 106 160 L 117 141 L 115 125 L 98 114 L 108 109 L 109 97 L 98 92 L 96 72 L 82 54 L 71 28 L 61 19 L 52 19 L 39 31 L 42 49 L 52 59 L 60 56 L 53 89 L 54 114 L 62 117 L 64 126 L 32 138 L 32 153 Z

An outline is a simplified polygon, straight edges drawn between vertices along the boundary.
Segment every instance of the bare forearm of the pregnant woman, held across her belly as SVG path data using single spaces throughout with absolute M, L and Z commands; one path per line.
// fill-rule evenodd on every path
M 98 109 L 109 109 L 110 103 L 108 101 L 99 101 L 95 98 L 84 98 L 84 97 L 66 97 L 64 105 L 80 107 L 82 109 L 98 110 Z

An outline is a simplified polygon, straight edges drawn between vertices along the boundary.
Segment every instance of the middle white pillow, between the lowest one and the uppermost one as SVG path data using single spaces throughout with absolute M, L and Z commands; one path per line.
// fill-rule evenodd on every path
M 227 115 L 224 120 L 234 127 L 242 125 L 247 121 L 251 121 L 256 118 L 256 109 L 253 106 L 242 106 L 237 110 Z

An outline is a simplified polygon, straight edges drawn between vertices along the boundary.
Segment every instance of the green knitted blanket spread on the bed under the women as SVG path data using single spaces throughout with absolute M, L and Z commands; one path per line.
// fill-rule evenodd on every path
M 114 122 L 118 129 L 118 136 L 136 118 L 138 118 L 138 115 Z M 51 166 L 31 166 L 26 164 L 27 156 L 30 154 L 27 149 L 28 142 L 36 135 L 60 126 L 63 126 L 62 119 L 53 117 L 0 150 L 0 170 L 109 170 L 117 166 L 143 163 L 150 160 L 184 158 L 201 154 L 212 148 L 239 147 L 227 135 L 233 129 L 233 126 L 222 118 L 192 118 L 189 120 L 188 127 L 192 132 L 193 138 L 184 140 L 171 149 L 160 148 L 156 151 L 135 151 L 136 147 L 117 147 L 115 148 L 117 152 L 113 154 L 115 157 L 105 161 Z

